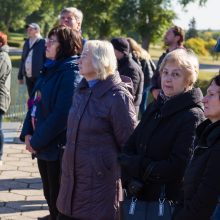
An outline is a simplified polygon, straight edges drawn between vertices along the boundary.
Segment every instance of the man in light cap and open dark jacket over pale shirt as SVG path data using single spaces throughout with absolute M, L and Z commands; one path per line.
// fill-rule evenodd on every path
M 45 62 L 45 40 L 40 35 L 40 27 L 36 23 L 27 25 L 28 39 L 23 46 L 21 64 L 18 72 L 19 84 L 23 84 L 25 76 L 29 97 Z

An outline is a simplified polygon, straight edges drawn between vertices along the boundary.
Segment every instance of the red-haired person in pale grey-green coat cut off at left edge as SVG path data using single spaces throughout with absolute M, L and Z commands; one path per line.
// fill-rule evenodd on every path
M 3 153 L 3 132 L 1 129 L 3 114 L 10 105 L 11 60 L 8 56 L 7 35 L 0 32 L 0 165 Z

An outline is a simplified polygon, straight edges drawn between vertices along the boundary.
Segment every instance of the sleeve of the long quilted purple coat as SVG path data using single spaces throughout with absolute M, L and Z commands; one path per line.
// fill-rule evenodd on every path
M 133 132 L 137 123 L 137 117 L 133 100 L 129 95 L 116 92 L 113 94 L 113 97 L 110 120 L 115 140 L 121 148 Z

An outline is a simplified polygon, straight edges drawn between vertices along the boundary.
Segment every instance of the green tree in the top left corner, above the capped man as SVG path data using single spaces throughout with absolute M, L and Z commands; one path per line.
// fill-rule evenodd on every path
M 0 0 L 0 21 L 5 29 L 17 30 L 24 26 L 25 18 L 39 9 L 41 0 Z

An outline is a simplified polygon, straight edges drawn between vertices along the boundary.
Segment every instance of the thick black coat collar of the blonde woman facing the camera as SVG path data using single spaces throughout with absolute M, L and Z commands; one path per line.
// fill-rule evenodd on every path
M 202 97 L 201 90 L 199 88 L 193 88 L 170 99 L 165 104 L 162 104 L 161 98 L 158 97 L 155 106 L 159 109 L 161 117 L 167 117 L 185 108 L 197 106 L 203 109 Z

